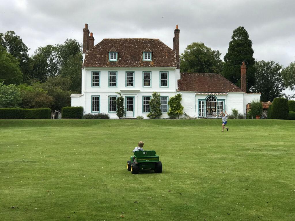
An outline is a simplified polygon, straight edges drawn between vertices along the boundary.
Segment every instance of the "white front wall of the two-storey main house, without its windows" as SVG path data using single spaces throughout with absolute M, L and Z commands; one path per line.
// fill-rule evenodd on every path
M 92 71 L 100 72 L 100 86 L 92 87 Z M 109 71 L 117 71 L 117 87 L 109 87 Z M 134 87 L 126 87 L 126 71 L 134 71 Z M 151 87 L 143 87 L 142 72 L 151 72 Z M 168 71 L 168 87 L 160 87 L 160 71 Z M 82 69 L 82 96 L 72 98 L 72 106 L 82 106 L 84 114 L 91 113 L 91 96 L 100 96 L 100 113 L 108 113 L 111 118 L 117 118 L 116 113 L 109 113 L 108 96 L 119 96 L 116 92 L 125 96 L 134 96 L 134 117 L 143 116 L 147 118 L 148 113 L 142 113 L 142 96 L 151 96 L 154 91 L 161 96 L 174 96 L 176 94 L 177 80 L 180 78 L 179 69 L 174 67 L 163 68 L 83 68 Z M 168 118 L 167 113 L 163 113 L 161 118 Z

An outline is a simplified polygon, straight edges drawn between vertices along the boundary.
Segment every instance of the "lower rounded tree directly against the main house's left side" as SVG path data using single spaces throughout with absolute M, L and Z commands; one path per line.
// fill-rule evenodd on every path
M 81 67 L 82 54 L 77 53 L 76 55 L 70 55 L 60 68 L 60 76 L 71 80 L 70 90 L 74 93 L 81 93 Z

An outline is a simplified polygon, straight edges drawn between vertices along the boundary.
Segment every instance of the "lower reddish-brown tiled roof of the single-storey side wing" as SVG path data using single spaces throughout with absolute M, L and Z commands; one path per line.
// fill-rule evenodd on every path
M 243 92 L 220 74 L 181 73 L 178 91 L 194 92 Z

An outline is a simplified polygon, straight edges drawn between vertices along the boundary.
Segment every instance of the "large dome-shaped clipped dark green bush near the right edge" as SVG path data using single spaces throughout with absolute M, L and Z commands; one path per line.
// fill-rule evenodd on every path
M 272 119 L 287 119 L 289 114 L 288 100 L 286 98 L 275 98 L 271 105 Z

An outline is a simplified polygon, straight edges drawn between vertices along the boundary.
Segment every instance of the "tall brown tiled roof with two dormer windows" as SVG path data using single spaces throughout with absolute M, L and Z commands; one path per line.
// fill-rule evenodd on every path
M 118 52 L 118 61 L 109 61 L 109 51 Z M 152 61 L 142 61 L 142 52 L 152 52 Z M 103 39 L 85 55 L 83 67 L 176 67 L 176 52 L 159 39 Z

